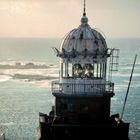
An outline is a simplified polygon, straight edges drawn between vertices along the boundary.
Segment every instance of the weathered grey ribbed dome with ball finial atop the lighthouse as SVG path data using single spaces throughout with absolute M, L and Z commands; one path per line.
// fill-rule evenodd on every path
M 85 14 L 81 18 L 81 25 L 71 30 L 63 39 L 60 46 L 62 57 L 88 56 L 96 57 L 106 54 L 107 45 L 103 35 L 88 24 Z

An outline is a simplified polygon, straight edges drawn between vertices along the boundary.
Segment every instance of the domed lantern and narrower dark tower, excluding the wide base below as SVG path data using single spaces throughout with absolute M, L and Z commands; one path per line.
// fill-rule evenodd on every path
M 114 84 L 107 75 L 111 77 L 116 49 L 107 48 L 103 35 L 89 26 L 85 5 L 81 25 L 64 37 L 56 51 L 60 74 L 59 81 L 52 82 L 55 116 L 66 117 L 71 124 L 107 123 L 114 95 Z

